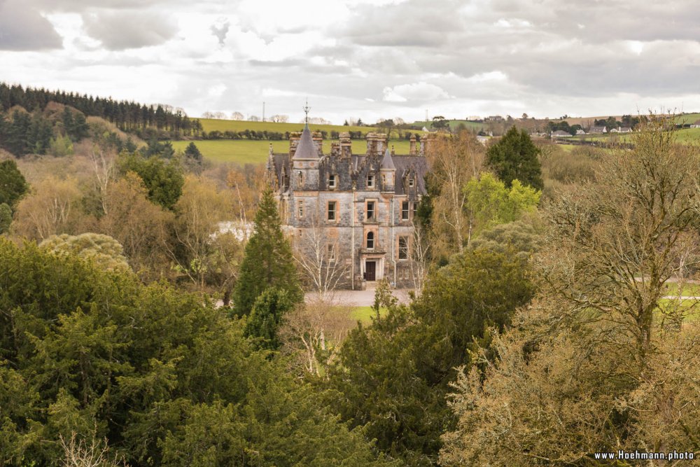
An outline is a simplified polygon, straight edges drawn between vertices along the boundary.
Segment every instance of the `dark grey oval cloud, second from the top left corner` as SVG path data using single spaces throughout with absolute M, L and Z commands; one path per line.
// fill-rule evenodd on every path
M 167 15 L 113 11 L 83 15 L 85 32 L 109 50 L 158 46 L 172 39 L 177 27 Z

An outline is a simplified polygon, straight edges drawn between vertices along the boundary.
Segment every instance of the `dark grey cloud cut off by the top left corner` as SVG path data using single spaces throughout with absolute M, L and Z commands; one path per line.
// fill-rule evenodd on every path
M 22 1 L 0 1 L 0 50 L 46 50 L 62 47 L 53 25 Z

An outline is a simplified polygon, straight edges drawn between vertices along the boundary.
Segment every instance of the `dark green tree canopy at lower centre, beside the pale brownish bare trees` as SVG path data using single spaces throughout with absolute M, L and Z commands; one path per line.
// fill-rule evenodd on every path
M 412 306 L 380 296 L 375 310 L 386 314 L 353 330 L 329 370 L 332 407 L 385 452 L 432 465 L 454 424 L 445 396 L 456 368 L 472 364 L 475 339 L 487 343 L 487 328 L 505 328 L 532 295 L 526 263 L 512 253 L 468 250 L 435 272 Z

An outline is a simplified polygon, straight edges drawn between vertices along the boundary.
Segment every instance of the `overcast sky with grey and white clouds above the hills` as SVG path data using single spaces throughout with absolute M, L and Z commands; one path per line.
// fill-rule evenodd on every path
M 0 81 L 342 123 L 700 111 L 696 1 L 0 0 Z

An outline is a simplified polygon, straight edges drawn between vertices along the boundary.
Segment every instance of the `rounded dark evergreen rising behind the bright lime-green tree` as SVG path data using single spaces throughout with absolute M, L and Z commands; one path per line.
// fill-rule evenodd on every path
M 538 156 L 540 150 L 533 144 L 525 130 L 510 130 L 486 151 L 486 166 L 493 169 L 507 188 L 513 180 L 519 180 L 536 190 L 542 190 L 542 169 Z

